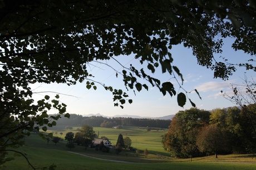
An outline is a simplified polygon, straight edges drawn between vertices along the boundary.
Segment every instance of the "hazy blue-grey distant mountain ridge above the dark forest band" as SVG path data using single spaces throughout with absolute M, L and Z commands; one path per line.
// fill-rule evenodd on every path
M 134 119 L 159 119 L 159 120 L 171 120 L 175 115 L 166 115 L 166 116 L 161 116 L 161 117 L 149 117 L 149 116 L 137 116 L 137 115 L 115 115 L 115 116 L 105 116 L 101 114 L 88 114 L 88 115 L 83 115 L 83 116 L 102 116 L 102 117 L 131 117 Z

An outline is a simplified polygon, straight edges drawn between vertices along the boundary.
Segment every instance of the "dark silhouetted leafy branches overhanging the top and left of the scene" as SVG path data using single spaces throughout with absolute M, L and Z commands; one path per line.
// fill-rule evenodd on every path
M 1 150 L 33 128 L 42 126 L 46 131 L 60 115 L 69 116 L 58 95 L 34 101 L 30 84 L 86 81 L 87 89 L 96 90 L 97 83 L 112 92 L 115 106 L 131 103 L 124 90 L 97 81 L 87 69 L 90 63 L 108 65 L 104 61 L 110 59 L 121 65 L 117 59 L 121 55 L 134 54 L 138 63 L 146 65 L 142 69 L 122 65 L 122 71 L 108 65 L 122 76 L 127 90 L 156 86 L 163 95 L 177 95 L 180 106 L 186 99 L 195 106 L 188 91 L 177 94 L 174 83 L 161 82 L 151 73 L 160 69 L 182 87 L 183 76 L 169 50 L 176 44 L 191 48 L 198 64 L 214 71 L 214 78 L 228 79 L 237 65 L 255 71 L 253 59 L 233 64 L 213 55 L 221 53 L 227 37 L 234 38 L 234 50 L 256 54 L 255 6 L 254 1 L 213 0 L 1 1 Z M 141 83 L 142 79 L 147 83 Z M 49 119 L 51 108 L 60 115 Z

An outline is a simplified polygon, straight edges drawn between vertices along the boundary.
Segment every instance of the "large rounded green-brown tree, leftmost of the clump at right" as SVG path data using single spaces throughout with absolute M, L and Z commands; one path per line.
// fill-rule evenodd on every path
M 210 112 L 191 108 L 179 111 L 170 123 L 168 132 L 163 137 L 165 150 L 175 157 L 189 158 L 200 156 L 195 145 L 196 136 L 201 127 L 208 125 Z

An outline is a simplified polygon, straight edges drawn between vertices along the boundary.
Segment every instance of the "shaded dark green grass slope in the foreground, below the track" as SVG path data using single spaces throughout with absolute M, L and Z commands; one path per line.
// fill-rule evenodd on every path
M 255 169 L 256 164 L 216 162 L 115 163 L 83 157 L 67 151 L 23 147 L 31 163 L 43 167 L 55 163 L 57 169 Z M 6 169 L 29 169 L 23 157 L 5 164 Z

